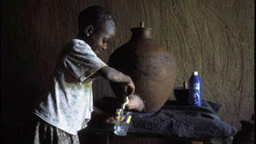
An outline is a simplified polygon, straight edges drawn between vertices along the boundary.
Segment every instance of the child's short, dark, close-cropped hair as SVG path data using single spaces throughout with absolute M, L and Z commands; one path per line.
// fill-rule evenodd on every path
M 108 10 L 101 6 L 90 6 L 79 14 L 79 34 L 84 34 L 85 26 L 94 26 L 100 30 L 105 30 L 106 22 L 113 21 L 113 17 Z

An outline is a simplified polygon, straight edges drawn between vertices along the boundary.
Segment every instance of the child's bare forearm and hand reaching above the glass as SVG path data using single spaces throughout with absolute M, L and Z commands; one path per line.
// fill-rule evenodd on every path
M 127 75 L 125 75 L 122 72 L 119 72 L 118 70 L 109 67 L 109 66 L 103 66 L 98 73 L 103 77 L 108 79 L 111 82 L 115 83 L 123 83 L 125 84 L 125 95 L 131 96 L 133 95 L 135 91 L 135 86 L 131 80 L 131 78 Z

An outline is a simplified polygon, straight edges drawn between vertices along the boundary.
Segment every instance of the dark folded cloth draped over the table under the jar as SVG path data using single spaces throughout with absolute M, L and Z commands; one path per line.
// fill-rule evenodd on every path
M 188 138 L 230 138 L 236 135 L 236 128 L 218 118 L 219 107 L 210 101 L 202 101 L 202 107 L 176 105 L 172 101 L 171 105 L 161 107 L 158 112 L 133 112 L 129 132 Z

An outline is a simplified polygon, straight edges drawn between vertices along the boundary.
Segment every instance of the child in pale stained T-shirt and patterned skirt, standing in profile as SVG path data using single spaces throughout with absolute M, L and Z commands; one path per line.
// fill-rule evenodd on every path
M 107 49 L 115 32 L 113 17 L 105 8 L 92 6 L 79 14 L 79 35 L 67 44 L 49 92 L 34 110 L 33 143 L 79 143 L 78 131 L 87 126 L 91 113 L 102 114 L 93 108 L 92 81 L 98 76 L 123 84 L 124 94 L 131 100 L 128 107 L 141 109 L 131 78 L 97 57 Z

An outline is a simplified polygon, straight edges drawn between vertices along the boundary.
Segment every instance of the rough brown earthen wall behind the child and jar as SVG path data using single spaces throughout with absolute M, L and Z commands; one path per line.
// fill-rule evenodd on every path
M 240 129 L 254 112 L 253 0 L 44 0 L 1 2 L 3 123 L 22 120 L 48 85 L 65 43 L 77 35 L 77 16 L 97 4 L 117 21 L 104 61 L 130 37 L 130 29 L 154 28 L 154 40 L 177 60 L 175 87 L 198 71 L 202 98 L 222 105 L 218 115 Z M 114 96 L 107 81 L 94 84 L 96 99 Z M 174 100 L 173 94 L 170 99 Z M 18 111 L 18 112 L 17 112 Z M 20 112 L 19 112 L 20 111 Z M 15 113 L 15 114 L 14 114 Z

